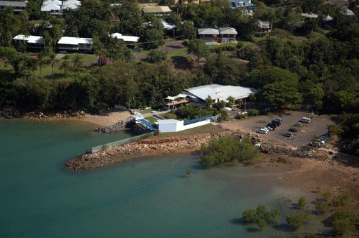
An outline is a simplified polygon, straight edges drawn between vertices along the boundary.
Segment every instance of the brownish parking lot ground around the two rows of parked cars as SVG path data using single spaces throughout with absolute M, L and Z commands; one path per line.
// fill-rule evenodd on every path
M 299 122 L 302 117 L 311 118 L 311 123 L 301 123 L 302 127 L 295 127 L 294 124 Z M 266 134 L 259 134 L 256 131 L 269 124 L 272 119 L 281 118 L 282 123 L 274 131 Z M 327 125 L 333 122 L 327 116 L 317 116 L 306 112 L 285 112 L 284 114 L 273 114 L 271 116 L 260 116 L 249 119 L 228 121 L 221 124 L 222 128 L 228 128 L 231 131 L 240 131 L 243 133 L 257 134 L 267 140 L 273 140 L 286 145 L 302 146 L 308 145 L 314 136 L 319 136 L 327 132 Z M 293 138 L 283 136 L 289 128 L 297 128 Z

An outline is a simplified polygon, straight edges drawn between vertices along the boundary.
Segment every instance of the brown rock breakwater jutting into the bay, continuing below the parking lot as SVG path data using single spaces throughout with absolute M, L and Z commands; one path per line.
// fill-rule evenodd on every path
M 201 150 L 202 144 L 207 144 L 211 139 L 220 138 L 224 135 L 237 136 L 239 140 L 249 137 L 253 144 L 259 148 L 259 151 L 264 154 L 320 160 L 330 158 L 328 152 L 315 150 L 311 147 L 289 148 L 269 145 L 257 137 L 257 135 L 243 136 L 236 135 L 231 131 L 225 131 L 223 133 L 205 133 L 163 139 L 151 138 L 149 140 L 140 140 L 133 143 L 109 147 L 105 150 L 94 152 L 93 154 L 83 154 L 74 159 L 70 159 L 66 161 L 65 168 L 69 171 L 88 171 L 133 159 L 197 152 L 198 150 Z

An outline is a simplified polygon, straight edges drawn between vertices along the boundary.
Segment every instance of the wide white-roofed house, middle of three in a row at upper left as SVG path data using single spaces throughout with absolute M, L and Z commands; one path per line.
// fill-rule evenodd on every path
M 93 51 L 92 38 L 61 37 L 57 41 L 57 49 L 60 51 Z

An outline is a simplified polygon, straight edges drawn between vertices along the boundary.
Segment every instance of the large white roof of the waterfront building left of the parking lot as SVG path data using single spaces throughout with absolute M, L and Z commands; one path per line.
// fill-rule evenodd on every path
M 223 100 L 227 102 L 227 98 L 230 96 L 235 100 L 247 98 L 251 93 L 255 93 L 255 90 L 251 88 L 244 88 L 241 86 L 209 84 L 198 86 L 195 88 L 186 89 L 187 93 L 194 95 L 201 100 L 206 100 L 210 96 L 213 100 Z

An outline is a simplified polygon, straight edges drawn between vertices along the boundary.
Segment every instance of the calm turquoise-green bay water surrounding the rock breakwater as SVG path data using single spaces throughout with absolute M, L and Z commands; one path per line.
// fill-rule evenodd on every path
M 269 237 L 271 228 L 238 225 L 242 211 L 297 195 L 280 175 L 241 166 L 203 170 L 193 156 L 63 171 L 86 148 L 130 136 L 92 130 L 0 120 L 0 237 Z

